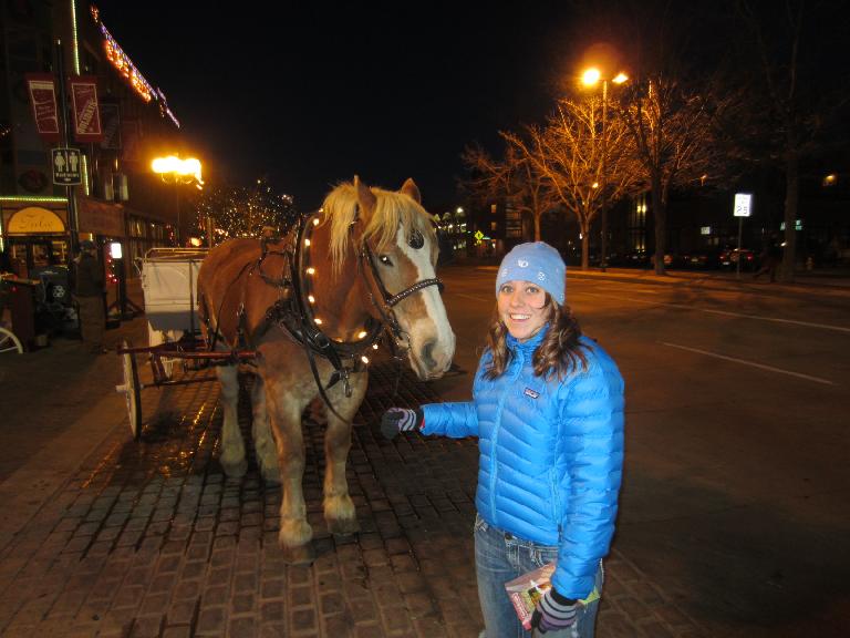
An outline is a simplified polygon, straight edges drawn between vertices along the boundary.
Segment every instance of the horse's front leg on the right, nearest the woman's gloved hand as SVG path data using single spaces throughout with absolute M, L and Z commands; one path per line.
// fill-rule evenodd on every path
M 351 450 L 351 420 L 363 402 L 366 384 L 366 373 L 354 374 L 351 377 L 351 397 L 345 397 L 340 390 L 331 399 L 344 421 L 325 407 L 328 429 L 324 431 L 324 519 L 328 531 L 336 536 L 346 536 L 360 529 L 354 503 L 349 495 L 345 463 Z

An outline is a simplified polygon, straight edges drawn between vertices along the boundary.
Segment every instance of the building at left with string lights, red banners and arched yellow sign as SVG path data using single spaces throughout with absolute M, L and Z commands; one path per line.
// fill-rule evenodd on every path
M 96 7 L 21 0 L 0 8 L 2 248 L 18 275 L 31 277 L 68 265 L 72 244 L 93 239 L 104 263 L 132 277 L 133 258 L 174 245 L 186 235 L 178 225 L 189 225 L 188 215 L 180 219 L 178 187 L 151 169 L 154 156 L 184 151 L 179 122 Z M 45 82 L 48 111 L 53 92 L 52 119 L 40 111 L 33 76 Z M 82 107 L 83 93 L 71 90 L 80 80 L 96 88 Z M 71 150 L 73 166 L 63 167 L 76 169 L 79 185 L 54 183 L 61 148 Z

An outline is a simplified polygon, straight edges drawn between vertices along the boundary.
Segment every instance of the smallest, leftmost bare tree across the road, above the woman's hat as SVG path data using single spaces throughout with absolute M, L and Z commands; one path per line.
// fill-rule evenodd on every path
M 464 188 L 479 202 L 505 199 L 505 203 L 520 214 L 531 215 L 535 224 L 535 241 L 540 240 L 540 219 L 543 213 L 557 205 L 546 188 L 546 178 L 519 150 L 506 141 L 502 160 L 493 158 L 480 146 L 468 146 L 462 160 L 470 177 L 463 183 Z

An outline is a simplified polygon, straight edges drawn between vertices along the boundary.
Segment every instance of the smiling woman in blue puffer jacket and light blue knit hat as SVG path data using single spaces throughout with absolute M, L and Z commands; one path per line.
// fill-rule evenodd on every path
M 487 638 L 528 636 L 505 583 L 557 560 L 532 626 L 588 638 L 623 465 L 623 379 L 564 306 L 566 266 L 537 241 L 515 247 L 496 278 L 496 317 L 473 401 L 390 409 L 387 436 L 478 436 L 475 522 Z

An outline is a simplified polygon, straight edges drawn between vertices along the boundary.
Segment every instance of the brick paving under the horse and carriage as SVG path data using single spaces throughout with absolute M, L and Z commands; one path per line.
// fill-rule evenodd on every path
M 0 635 L 476 637 L 477 446 L 383 440 L 376 421 L 390 404 L 439 400 L 407 372 L 393 397 L 396 375 L 388 363 L 373 368 L 355 420 L 355 537 L 325 531 L 322 425 L 309 411 L 310 567 L 283 565 L 280 488 L 260 481 L 253 460 L 242 480 L 224 475 L 217 385 L 145 390 L 142 441 L 113 430 L 0 553 Z M 607 567 L 600 638 L 707 635 L 675 607 L 675 593 L 615 549 Z

